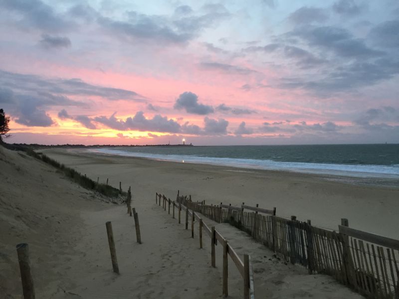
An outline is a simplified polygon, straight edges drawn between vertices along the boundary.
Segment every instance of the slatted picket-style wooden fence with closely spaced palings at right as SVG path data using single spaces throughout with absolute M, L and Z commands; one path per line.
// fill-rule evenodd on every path
M 276 216 L 276 208 L 205 205 L 191 197 L 177 201 L 216 222 L 228 222 L 309 274 L 334 277 L 358 293 L 378 299 L 399 299 L 399 241 L 349 228 L 342 219 L 339 232 Z M 249 211 L 246 211 L 249 210 Z

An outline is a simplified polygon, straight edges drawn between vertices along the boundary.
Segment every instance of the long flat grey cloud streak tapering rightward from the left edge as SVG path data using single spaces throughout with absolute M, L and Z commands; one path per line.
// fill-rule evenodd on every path
M 37 75 L 25 75 L 0 70 L 0 85 L 8 86 L 14 92 L 98 96 L 107 100 L 123 99 L 143 102 L 142 97 L 134 91 L 92 85 L 81 79 L 45 79 Z M 58 100 L 60 99 L 58 98 Z

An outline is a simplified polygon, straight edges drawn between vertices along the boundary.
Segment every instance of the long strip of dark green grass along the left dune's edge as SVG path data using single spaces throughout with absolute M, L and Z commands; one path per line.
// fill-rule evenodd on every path
M 73 168 L 67 167 L 64 164 L 50 158 L 49 156 L 42 154 L 42 153 L 37 153 L 35 152 L 33 149 L 30 149 L 28 147 L 23 147 L 23 146 L 16 146 L 16 145 L 8 145 L 6 146 L 6 148 L 8 149 L 12 149 L 12 150 L 22 150 L 24 152 L 26 152 L 28 155 L 42 160 L 43 162 L 52 165 L 53 167 L 57 168 L 61 173 L 64 173 L 65 176 L 69 177 L 72 179 L 72 181 L 74 181 L 75 183 L 79 184 L 80 186 L 82 186 L 85 189 L 89 189 L 89 190 L 95 190 L 105 196 L 108 197 L 118 197 L 119 196 L 119 189 L 114 188 L 110 185 L 106 185 L 103 183 L 97 183 L 94 180 L 92 180 L 91 178 L 88 178 L 82 174 L 80 174 L 80 172 L 76 171 Z M 122 195 L 126 195 L 126 192 L 122 192 Z

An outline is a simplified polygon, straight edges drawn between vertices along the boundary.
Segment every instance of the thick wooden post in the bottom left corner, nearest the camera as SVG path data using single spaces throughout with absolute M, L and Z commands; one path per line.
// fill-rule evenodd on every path
M 24 299 L 34 299 L 33 279 L 30 274 L 29 246 L 26 243 L 16 245 L 18 254 L 19 271 L 21 273 L 22 292 Z

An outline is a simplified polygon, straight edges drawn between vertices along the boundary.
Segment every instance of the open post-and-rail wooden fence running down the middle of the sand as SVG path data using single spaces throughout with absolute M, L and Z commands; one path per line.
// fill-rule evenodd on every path
M 202 249 L 202 232 L 205 232 L 210 238 L 211 244 L 211 265 L 212 267 L 215 266 L 215 246 L 217 246 L 217 241 L 219 244 L 223 246 L 223 297 L 228 296 L 228 256 L 230 256 L 231 260 L 234 262 L 234 265 L 237 267 L 238 272 L 240 273 L 243 282 L 244 282 L 244 299 L 254 299 L 254 287 L 253 287 L 253 271 L 252 271 L 252 263 L 249 255 L 243 256 L 243 261 L 240 259 L 238 254 L 235 250 L 231 247 L 228 241 L 217 231 L 215 230 L 214 226 L 210 227 L 203 222 L 202 218 L 198 213 L 198 210 L 194 210 L 193 203 L 187 200 L 187 197 L 179 196 L 177 201 L 171 201 L 171 199 L 167 198 L 165 195 L 161 195 L 158 192 L 155 195 L 155 203 L 161 206 L 162 200 L 162 208 L 166 211 L 166 207 L 168 206 L 168 214 L 171 214 L 171 206 L 172 206 L 172 217 L 176 218 L 175 216 L 175 208 L 178 211 L 178 219 L 179 223 L 181 223 L 181 213 L 182 211 L 186 212 L 186 229 L 189 226 L 189 216 L 191 219 L 191 236 L 194 238 L 194 221 L 197 219 L 199 221 L 199 239 L 200 239 L 200 249 Z M 183 200 L 184 199 L 184 200 Z M 202 202 L 203 203 L 203 202 Z M 190 207 L 191 206 L 191 207 Z M 207 215 L 214 217 L 213 206 L 212 208 L 207 208 L 203 204 L 199 207 L 197 204 L 196 206 L 204 211 L 203 215 L 207 213 Z M 220 209 L 218 209 L 220 211 Z M 197 212 L 197 213 L 196 213 Z M 218 215 L 219 216 L 219 215 Z M 208 217 L 210 218 L 210 217 Z M 212 219 L 212 218 L 211 218 Z

